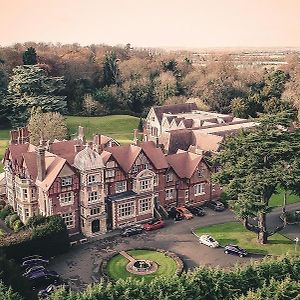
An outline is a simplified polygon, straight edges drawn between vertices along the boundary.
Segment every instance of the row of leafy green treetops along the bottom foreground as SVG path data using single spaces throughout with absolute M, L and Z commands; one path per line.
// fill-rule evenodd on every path
M 231 299 L 299 299 L 299 257 L 269 258 L 233 271 L 200 267 L 181 276 L 158 277 L 150 283 L 119 280 L 99 283 L 83 292 L 58 291 L 55 300 L 231 300 Z M 3 291 L 1 291 L 3 290 Z M 7 293 L 0 286 L 1 292 Z M 7 298 L 7 300 L 13 298 Z

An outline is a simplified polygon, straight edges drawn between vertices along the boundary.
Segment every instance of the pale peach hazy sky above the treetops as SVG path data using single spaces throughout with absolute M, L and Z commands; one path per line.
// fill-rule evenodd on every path
M 300 0 L 0 0 L 0 45 L 300 47 Z

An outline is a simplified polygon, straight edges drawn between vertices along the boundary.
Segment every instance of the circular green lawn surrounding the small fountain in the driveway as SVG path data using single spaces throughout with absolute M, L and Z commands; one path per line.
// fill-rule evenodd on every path
M 127 253 L 136 259 L 148 259 L 155 261 L 159 265 L 158 270 L 152 274 L 144 276 L 131 274 L 126 270 L 128 260 L 119 254 L 114 256 L 107 264 L 107 271 L 111 278 L 115 280 L 121 278 L 125 279 L 128 277 L 135 279 L 144 278 L 145 282 L 150 282 L 157 276 L 173 276 L 176 273 L 176 262 L 164 253 L 151 250 L 130 250 L 127 251 Z

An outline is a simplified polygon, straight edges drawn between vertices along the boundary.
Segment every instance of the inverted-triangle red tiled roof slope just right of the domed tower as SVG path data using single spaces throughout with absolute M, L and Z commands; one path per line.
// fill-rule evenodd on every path
M 141 152 L 141 148 L 135 145 L 123 145 L 105 149 L 110 152 L 124 172 L 129 172 L 135 160 Z

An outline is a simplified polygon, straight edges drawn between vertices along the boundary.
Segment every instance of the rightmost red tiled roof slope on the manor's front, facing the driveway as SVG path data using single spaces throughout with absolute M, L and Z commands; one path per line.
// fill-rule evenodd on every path
M 180 178 L 191 178 L 203 156 L 191 152 L 167 155 L 167 161 Z

